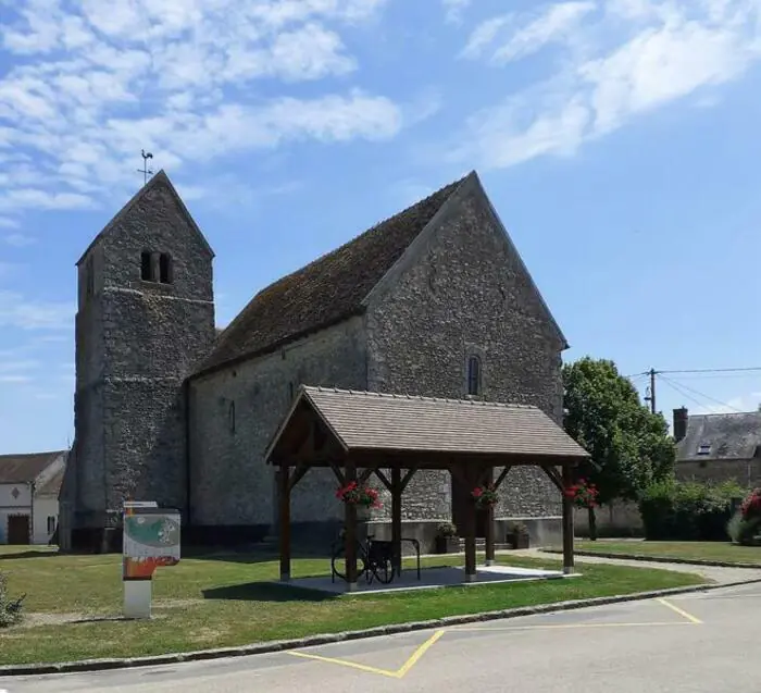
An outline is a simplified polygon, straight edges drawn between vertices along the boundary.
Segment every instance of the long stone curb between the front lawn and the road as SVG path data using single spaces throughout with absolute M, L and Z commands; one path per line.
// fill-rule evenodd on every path
M 666 597 L 675 594 L 689 594 L 695 592 L 709 592 L 725 587 L 736 587 L 745 584 L 761 583 L 761 578 L 752 580 L 738 580 L 721 584 L 700 584 L 687 587 L 670 587 L 668 590 L 654 590 L 651 592 L 636 592 L 634 594 L 617 594 L 608 597 L 592 597 L 589 599 L 574 599 L 571 602 L 557 602 L 554 604 L 542 604 L 538 606 L 522 606 L 513 609 L 502 609 L 499 611 L 484 611 L 483 614 L 467 614 L 463 616 L 447 616 L 429 621 L 414 621 L 411 623 L 392 623 L 359 631 L 345 631 L 340 633 L 324 633 L 320 635 L 309 635 L 295 640 L 279 640 L 252 645 L 240 645 L 238 647 L 222 647 L 219 649 L 200 649 L 196 652 L 174 653 L 167 655 L 157 655 L 152 657 L 133 657 L 125 659 L 83 659 L 79 661 L 61 661 L 53 664 L 28 664 L 28 665 L 7 665 L 0 666 L 0 677 L 40 676 L 46 673 L 73 673 L 85 671 L 107 671 L 111 669 L 130 669 L 136 667 L 154 667 L 167 664 L 180 664 L 184 661 L 200 661 L 204 659 L 221 659 L 224 657 L 246 657 L 251 655 L 272 654 L 288 649 L 302 649 L 314 647 L 315 645 L 327 645 L 351 640 L 364 640 L 367 638 L 379 638 L 383 635 L 396 635 L 397 633 L 409 633 L 421 630 L 432 630 L 440 628 L 451 628 L 465 623 L 477 623 L 483 621 L 495 621 L 521 616 L 534 616 L 536 614 L 552 614 L 556 611 L 570 611 L 574 609 L 587 608 L 591 606 L 604 606 L 608 604 L 620 604 L 622 602 L 639 602 Z

